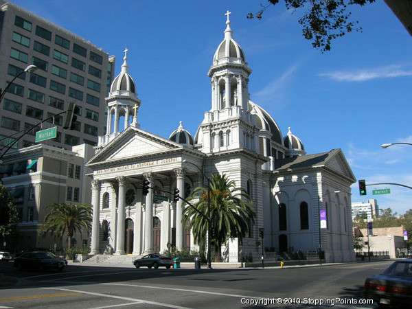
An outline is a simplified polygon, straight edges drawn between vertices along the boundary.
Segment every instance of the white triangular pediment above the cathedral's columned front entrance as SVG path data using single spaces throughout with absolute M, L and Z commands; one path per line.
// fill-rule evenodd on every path
M 183 146 L 169 139 L 129 127 L 100 150 L 87 165 L 132 158 L 147 157 L 182 149 Z

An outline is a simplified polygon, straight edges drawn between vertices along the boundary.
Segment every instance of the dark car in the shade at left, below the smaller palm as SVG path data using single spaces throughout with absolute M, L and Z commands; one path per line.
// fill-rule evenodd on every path
M 48 251 L 25 252 L 14 259 L 17 269 L 31 268 L 39 271 L 55 270 L 62 271 L 67 265 L 67 260 L 58 258 Z

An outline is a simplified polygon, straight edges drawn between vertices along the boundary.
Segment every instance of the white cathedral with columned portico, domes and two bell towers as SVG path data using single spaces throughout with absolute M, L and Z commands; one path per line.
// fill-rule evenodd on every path
M 233 39 L 229 14 L 225 38 L 207 72 L 211 108 L 194 138 L 182 122 L 168 139 L 140 128 L 141 101 L 128 73 L 126 49 L 106 98 L 106 135 L 87 163 L 93 171 L 91 253 L 163 253 L 170 245 L 198 250 L 182 223 L 182 201 L 173 202 L 173 194 L 165 192 L 178 188 L 187 197 L 203 174 L 219 173 L 247 190 L 256 213 L 248 237 L 241 244 L 230 239 L 223 260 L 239 262 L 242 255 L 260 252 L 262 228 L 265 250 L 321 249 L 325 262 L 354 260 L 350 185 L 356 179 L 343 152 L 306 155 L 290 128 L 283 137 L 271 115 L 250 100 L 251 69 Z M 144 180 L 150 181 L 147 195 Z

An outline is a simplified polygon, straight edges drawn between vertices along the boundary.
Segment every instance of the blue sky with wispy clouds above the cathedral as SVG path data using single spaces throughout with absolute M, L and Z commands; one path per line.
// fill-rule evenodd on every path
M 308 154 L 341 148 L 367 195 L 352 185 L 352 202 L 376 198 L 380 209 L 412 209 L 412 37 L 384 1 L 352 8 L 362 32 L 314 49 L 301 34 L 301 12 L 283 1 L 262 20 L 247 19 L 266 0 L 13 0 L 116 57 L 128 49 L 129 73 L 141 106 L 141 129 L 168 138 L 179 121 L 192 135 L 211 108 L 207 71 L 224 38 L 227 10 L 233 38 L 249 67 L 251 100 L 285 136 L 288 127 Z M 389 188 L 391 194 L 373 195 Z

